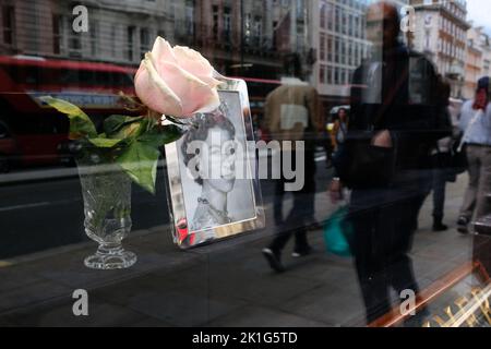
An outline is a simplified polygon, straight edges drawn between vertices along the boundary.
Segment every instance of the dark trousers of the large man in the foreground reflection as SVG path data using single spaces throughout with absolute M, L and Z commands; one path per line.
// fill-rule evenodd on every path
M 419 201 L 410 190 L 352 191 L 347 222 L 355 231 L 350 245 L 368 323 L 391 311 L 391 288 L 419 292 L 408 255 Z

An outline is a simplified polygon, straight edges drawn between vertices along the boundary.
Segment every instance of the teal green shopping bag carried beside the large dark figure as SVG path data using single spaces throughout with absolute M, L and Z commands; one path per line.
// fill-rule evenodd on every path
M 324 242 L 327 252 L 344 257 L 352 255 L 348 243 L 348 239 L 352 234 L 352 227 L 345 219 L 347 214 L 347 206 L 338 208 L 324 226 Z

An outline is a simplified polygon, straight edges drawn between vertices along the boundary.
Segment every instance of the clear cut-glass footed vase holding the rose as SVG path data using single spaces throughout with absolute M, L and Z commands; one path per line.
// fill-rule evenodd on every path
M 131 231 L 131 179 L 117 165 L 79 164 L 85 213 L 85 232 L 99 244 L 85 258 L 94 269 L 122 269 L 136 263 L 122 240 Z

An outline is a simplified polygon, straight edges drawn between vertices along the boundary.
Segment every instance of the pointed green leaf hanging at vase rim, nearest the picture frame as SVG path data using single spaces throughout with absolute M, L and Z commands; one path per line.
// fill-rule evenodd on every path
M 133 142 L 118 157 L 117 163 L 130 178 L 149 193 L 155 194 L 157 178 L 157 163 L 160 152 L 158 148 L 144 143 Z

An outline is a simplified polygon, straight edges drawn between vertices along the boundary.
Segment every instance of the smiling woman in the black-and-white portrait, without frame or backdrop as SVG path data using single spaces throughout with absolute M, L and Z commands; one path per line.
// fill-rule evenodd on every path
M 195 166 L 192 169 L 197 173 L 195 182 L 202 186 L 197 207 L 190 222 L 191 231 L 199 231 L 196 243 L 215 238 L 213 229 L 206 230 L 207 228 L 232 221 L 227 210 L 227 196 L 236 183 L 235 135 L 233 124 L 221 111 L 217 111 L 201 118 L 195 128 L 184 136 L 184 164 Z M 200 141 L 201 147 L 197 154 L 188 154 L 188 146 L 194 141 Z

